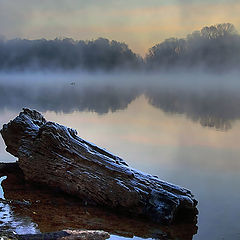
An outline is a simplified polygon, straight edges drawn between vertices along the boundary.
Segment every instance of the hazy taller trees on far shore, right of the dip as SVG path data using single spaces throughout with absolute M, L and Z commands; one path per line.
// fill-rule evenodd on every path
M 240 35 L 230 23 L 204 27 L 185 39 L 170 38 L 155 45 L 146 56 L 150 68 L 206 67 L 224 70 L 240 67 Z

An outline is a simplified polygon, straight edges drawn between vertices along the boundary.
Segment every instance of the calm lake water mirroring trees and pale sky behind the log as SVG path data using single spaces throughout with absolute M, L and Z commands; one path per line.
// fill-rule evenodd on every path
M 240 84 L 217 76 L 176 77 L 2 75 L 0 124 L 22 107 L 41 111 L 131 167 L 190 189 L 199 201 L 194 240 L 240 239 Z M 4 149 L 0 139 L 0 161 L 15 161 Z M 42 231 L 31 215 L 14 215 L 0 204 L 0 228 L 8 221 L 21 233 Z

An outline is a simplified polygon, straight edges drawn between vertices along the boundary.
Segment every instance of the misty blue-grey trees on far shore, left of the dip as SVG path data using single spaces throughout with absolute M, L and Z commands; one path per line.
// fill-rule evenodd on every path
M 125 43 L 99 38 L 95 41 L 14 39 L 0 42 L 0 69 L 135 68 L 140 57 Z

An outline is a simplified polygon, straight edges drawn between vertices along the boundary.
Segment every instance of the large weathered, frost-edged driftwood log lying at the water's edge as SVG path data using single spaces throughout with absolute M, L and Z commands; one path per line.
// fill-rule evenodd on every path
M 128 167 L 35 110 L 24 109 L 1 134 L 26 180 L 155 222 L 172 223 L 180 215 L 196 219 L 197 201 L 189 190 Z

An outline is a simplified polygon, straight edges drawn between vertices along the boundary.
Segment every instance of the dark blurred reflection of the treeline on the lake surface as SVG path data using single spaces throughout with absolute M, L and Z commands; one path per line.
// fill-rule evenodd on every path
M 0 82 L 0 110 L 98 114 L 123 110 L 144 95 L 152 106 L 166 113 L 184 114 L 204 127 L 228 130 L 240 118 L 240 95 L 236 89 L 183 89 L 136 84 L 8 84 Z

